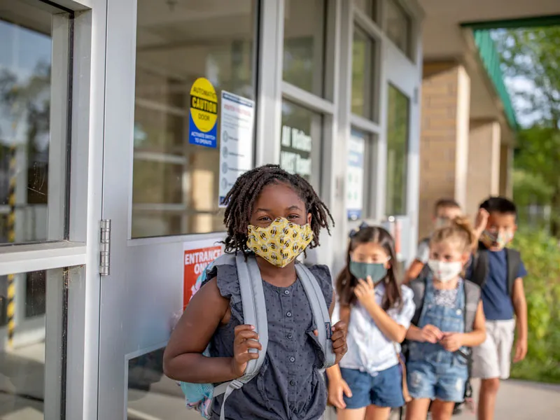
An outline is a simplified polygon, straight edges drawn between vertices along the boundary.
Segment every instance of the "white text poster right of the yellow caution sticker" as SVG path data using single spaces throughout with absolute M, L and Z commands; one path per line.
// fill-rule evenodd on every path
M 222 91 L 220 186 L 218 204 L 224 207 L 237 178 L 253 169 L 255 102 L 237 94 Z

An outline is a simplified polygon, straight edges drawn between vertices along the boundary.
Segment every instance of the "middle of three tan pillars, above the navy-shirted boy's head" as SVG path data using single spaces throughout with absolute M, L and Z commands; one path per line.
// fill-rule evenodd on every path
M 471 120 L 468 144 L 468 188 L 465 212 L 474 216 L 479 204 L 500 193 L 500 123 Z

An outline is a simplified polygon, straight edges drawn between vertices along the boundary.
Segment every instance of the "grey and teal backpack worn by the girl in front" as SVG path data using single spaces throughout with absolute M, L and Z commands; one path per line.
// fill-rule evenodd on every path
M 233 381 L 224 382 L 216 386 L 212 384 L 188 384 L 186 382 L 181 382 L 180 385 L 186 396 L 188 407 L 197 409 L 206 418 L 208 418 L 207 415 L 209 413 L 204 411 L 211 407 L 211 400 L 218 395 L 223 395 L 220 419 L 225 420 L 225 401 L 233 391 L 241 388 L 248 381 L 256 377 L 260 367 L 262 367 L 262 363 L 265 361 L 268 346 L 268 321 L 265 292 L 262 288 L 262 277 L 260 276 L 255 256 L 252 254 L 244 255 L 243 253 L 224 254 L 211 264 L 211 266 L 218 265 L 237 266 L 244 323 L 255 325 L 255 332 L 259 335 L 262 350 L 259 352 L 258 359 L 249 360 L 244 375 Z M 321 349 L 323 349 L 325 355 L 325 365 L 321 369 L 324 370 L 335 364 L 336 357 L 332 351 L 330 315 L 325 297 L 314 275 L 311 274 L 305 265 L 296 262 L 295 271 L 311 306 L 311 312 L 318 330 L 318 342 L 321 344 Z M 251 349 L 250 351 L 257 350 Z M 204 356 L 210 356 L 209 349 L 204 351 Z

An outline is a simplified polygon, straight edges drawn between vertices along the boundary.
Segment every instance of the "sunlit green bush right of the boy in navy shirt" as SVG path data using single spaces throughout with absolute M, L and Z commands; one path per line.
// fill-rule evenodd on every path
M 528 310 L 527 358 L 512 368 L 512 377 L 560 383 L 560 246 L 543 232 L 519 232 L 528 276 L 524 280 Z

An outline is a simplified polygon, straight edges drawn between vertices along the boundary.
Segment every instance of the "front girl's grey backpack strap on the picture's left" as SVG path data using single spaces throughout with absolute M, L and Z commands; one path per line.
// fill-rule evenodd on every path
M 259 335 L 262 349 L 259 351 L 258 359 L 249 360 L 245 373 L 239 379 L 225 382 L 214 388 L 214 397 L 223 394 L 220 420 L 225 420 L 225 400 L 236 389 L 241 388 L 251 381 L 259 372 L 262 363 L 265 362 L 268 346 L 268 320 L 267 307 L 265 303 L 265 291 L 262 288 L 262 277 L 258 269 L 257 260 L 254 255 L 237 253 L 235 255 L 237 265 L 237 277 L 239 279 L 239 290 L 241 291 L 241 306 L 243 307 L 243 320 L 247 325 L 254 325 L 255 332 Z M 251 352 L 256 349 L 249 349 Z

